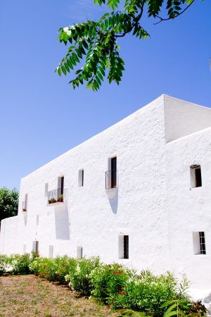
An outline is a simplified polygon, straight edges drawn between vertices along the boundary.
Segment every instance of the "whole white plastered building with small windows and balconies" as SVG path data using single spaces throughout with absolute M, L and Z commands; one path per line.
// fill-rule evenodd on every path
M 0 253 L 32 249 L 210 288 L 211 109 L 162 95 L 23 178 Z

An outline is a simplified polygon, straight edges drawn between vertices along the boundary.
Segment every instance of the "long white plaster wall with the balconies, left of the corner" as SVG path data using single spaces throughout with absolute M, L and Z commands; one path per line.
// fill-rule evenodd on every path
M 165 126 L 163 96 L 108 130 L 59 156 L 21 180 L 17 246 L 32 249 L 39 241 L 41 255 L 100 256 L 118 261 L 118 237 L 129 235 L 129 260 L 137 269 L 168 269 Z M 108 159 L 117 156 L 118 188 L 105 189 Z M 78 170 L 84 168 L 84 187 Z M 46 206 L 45 184 L 56 189 L 64 175 L 68 204 Z M 22 201 L 27 194 L 27 221 Z M 39 214 L 39 225 L 36 217 Z M 4 249 L 12 251 L 4 240 Z

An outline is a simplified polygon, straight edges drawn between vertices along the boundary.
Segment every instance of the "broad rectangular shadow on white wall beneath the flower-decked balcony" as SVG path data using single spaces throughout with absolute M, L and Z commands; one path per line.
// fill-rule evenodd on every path
M 56 239 L 70 240 L 68 206 L 55 206 Z

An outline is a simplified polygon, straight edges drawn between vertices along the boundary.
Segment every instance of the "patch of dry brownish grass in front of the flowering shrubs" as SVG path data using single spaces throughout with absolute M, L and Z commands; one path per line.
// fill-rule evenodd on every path
M 0 317 L 118 316 L 106 306 L 77 296 L 68 287 L 34 275 L 0 277 Z

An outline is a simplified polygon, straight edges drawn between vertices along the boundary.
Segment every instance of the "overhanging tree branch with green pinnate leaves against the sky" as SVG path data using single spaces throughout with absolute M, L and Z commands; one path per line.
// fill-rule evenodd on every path
M 98 21 L 87 20 L 60 28 L 60 42 L 70 46 L 55 72 L 60 76 L 67 75 L 78 68 L 75 71 L 76 77 L 69 82 L 74 89 L 87 82 L 87 88 L 96 91 L 105 77 L 109 83 L 116 82 L 119 85 L 124 61 L 120 56 L 117 39 L 127 34 L 138 39 L 147 39 L 149 34 L 142 25 L 144 14 L 148 18 L 154 18 L 154 24 L 158 24 L 177 18 L 194 1 L 124 0 L 124 7 L 120 10 L 120 0 L 94 0 L 94 4 L 105 4 L 112 11 L 104 14 Z

